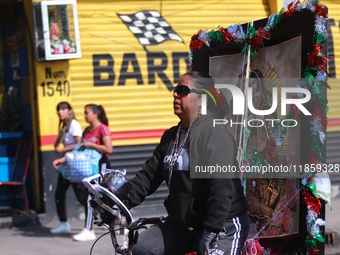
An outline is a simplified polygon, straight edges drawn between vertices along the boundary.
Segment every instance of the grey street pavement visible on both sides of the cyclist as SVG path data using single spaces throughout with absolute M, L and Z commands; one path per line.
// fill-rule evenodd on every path
M 140 205 L 131 211 L 133 218 L 166 215 L 162 205 Z M 340 255 L 340 186 L 332 186 L 332 208 L 326 205 L 326 234 L 334 236 L 333 244 L 325 245 L 326 255 Z M 11 225 L 14 226 L 11 227 Z M 76 242 L 71 238 L 83 228 L 83 221 L 70 222 L 72 233 L 52 235 L 49 230 L 58 222 L 45 222 L 44 215 L 0 217 L 1 255 L 112 255 L 110 235 L 105 227 L 94 226 L 97 241 Z M 101 237 L 102 236 L 102 237 Z M 101 238 L 100 238 L 101 237 Z M 118 236 L 122 243 L 124 236 Z M 330 240 L 328 240 L 330 242 Z M 92 253 L 91 253 L 92 249 Z

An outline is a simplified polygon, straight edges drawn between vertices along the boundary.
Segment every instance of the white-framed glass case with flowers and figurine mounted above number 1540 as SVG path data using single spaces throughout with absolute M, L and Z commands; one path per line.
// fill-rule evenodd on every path
M 33 16 L 38 61 L 81 57 L 76 0 L 35 3 Z

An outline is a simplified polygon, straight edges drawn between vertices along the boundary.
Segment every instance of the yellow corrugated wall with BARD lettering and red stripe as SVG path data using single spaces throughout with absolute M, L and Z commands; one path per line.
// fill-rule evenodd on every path
M 164 130 L 178 122 L 173 115 L 171 88 L 189 70 L 191 36 L 198 29 L 217 29 L 248 22 L 250 17 L 257 20 L 268 16 L 268 7 L 261 0 L 219 1 L 213 5 L 209 1 L 99 0 L 94 4 L 78 0 L 77 10 L 81 58 L 40 61 L 35 68 L 40 168 L 46 211 L 52 214 L 56 174 L 51 162 L 57 157 L 52 150 L 58 131 L 55 107 L 59 101 L 72 104 L 83 128 L 84 106 L 103 105 L 113 139 L 111 163 L 133 175 L 151 155 Z M 120 18 L 142 11 L 156 12 L 160 17 L 152 22 L 163 18 L 175 39 L 143 45 Z M 67 86 L 58 91 L 58 84 Z M 131 158 L 137 159 L 132 165 Z M 162 188 L 148 201 L 159 201 L 164 196 Z M 78 210 L 70 212 L 77 214 Z

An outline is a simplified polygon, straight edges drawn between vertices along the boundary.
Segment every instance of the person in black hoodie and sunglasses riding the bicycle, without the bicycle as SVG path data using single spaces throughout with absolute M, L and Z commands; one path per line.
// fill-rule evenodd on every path
M 205 95 L 206 97 L 203 97 Z M 173 92 L 178 125 L 165 131 L 143 168 L 129 181 L 128 208 L 140 204 L 165 181 L 169 195 L 165 223 L 143 231 L 134 255 L 239 254 L 249 232 L 248 204 L 238 176 L 191 178 L 190 169 L 235 166 L 237 147 L 225 125 L 228 103 L 210 76 L 184 74 Z M 202 114 L 202 98 L 207 113 Z M 190 156 L 189 156 L 190 155 Z

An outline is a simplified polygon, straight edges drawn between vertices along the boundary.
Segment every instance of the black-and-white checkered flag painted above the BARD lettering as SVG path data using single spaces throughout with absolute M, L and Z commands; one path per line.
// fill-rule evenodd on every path
M 157 45 L 167 40 L 183 42 L 157 11 L 140 11 L 118 16 L 143 46 Z

